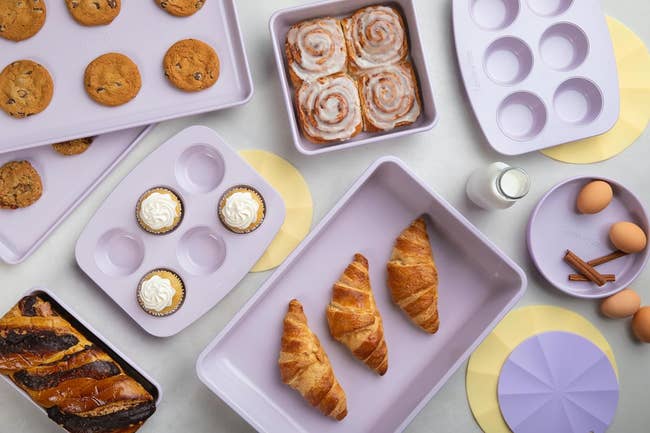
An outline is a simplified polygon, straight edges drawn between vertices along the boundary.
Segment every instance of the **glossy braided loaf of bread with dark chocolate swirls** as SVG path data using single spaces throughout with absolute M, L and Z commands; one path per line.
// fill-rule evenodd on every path
M 0 373 L 71 433 L 133 433 L 153 396 L 38 295 L 0 319 Z

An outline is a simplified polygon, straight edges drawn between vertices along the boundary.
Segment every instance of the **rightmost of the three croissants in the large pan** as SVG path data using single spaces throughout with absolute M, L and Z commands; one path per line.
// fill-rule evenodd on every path
M 395 302 L 424 331 L 435 334 L 438 318 L 438 270 L 424 218 L 397 238 L 388 262 L 388 287 Z

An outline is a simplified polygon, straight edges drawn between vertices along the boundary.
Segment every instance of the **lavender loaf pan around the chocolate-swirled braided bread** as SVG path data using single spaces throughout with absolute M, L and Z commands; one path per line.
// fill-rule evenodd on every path
M 54 292 L 49 289 L 42 287 L 37 287 L 31 290 L 28 290 L 23 296 L 28 295 L 38 295 L 44 300 L 50 302 L 54 307 L 54 310 L 59 313 L 64 319 L 66 319 L 75 329 L 77 329 L 81 334 L 83 334 L 88 340 L 93 344 L 96 344 L 98 347 L 106 351 L 115 362 L 117 362 L 120 367 L 133 379 L 135 379 L 144 389 L 146 389 L 156 400 L 156 406 L 160 405 L 162 401 L 162 388 L 160 385 L 145 371 L 138 367 L 133 361 L 129 359 L 123 352 L 121 352 L 117 347 L 112 345 L 102 334 L 95 330 L 88 322 L 83 320 L 75 311 L 68 307 L 61 299 L 59 299 Z M 18 302 L 18 301 L 16 301 Z M 36 404 L 25 391 L 18 387 L 15 383 L 11 381 L 7 376 L 0 374 L 0 377 L 4 379 L 11 387 L 23 395 L 27 400 L 29 400 L 40 412 L 47 416 L 47 412 L 41 406 Z M 154 414 L 155 416 L 155 414 Z M 61 429 L 61 431 L 66 431 Z

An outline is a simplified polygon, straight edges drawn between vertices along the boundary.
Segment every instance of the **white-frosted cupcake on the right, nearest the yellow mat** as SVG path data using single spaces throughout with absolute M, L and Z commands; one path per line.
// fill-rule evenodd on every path
M 219 219 L 234 233 L 250 233 L 264 221 L 266 206 L 255 189 L 239 185 L 230 188 L 219 201 Z

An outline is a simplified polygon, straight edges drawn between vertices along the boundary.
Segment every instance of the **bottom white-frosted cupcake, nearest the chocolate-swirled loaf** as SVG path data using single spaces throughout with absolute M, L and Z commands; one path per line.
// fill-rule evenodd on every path
M 168 269 L 156 269 L 138 284 L 138 304 L 152 316 L 164 317 L 175 313 L 185 300 L 185 285 Z

